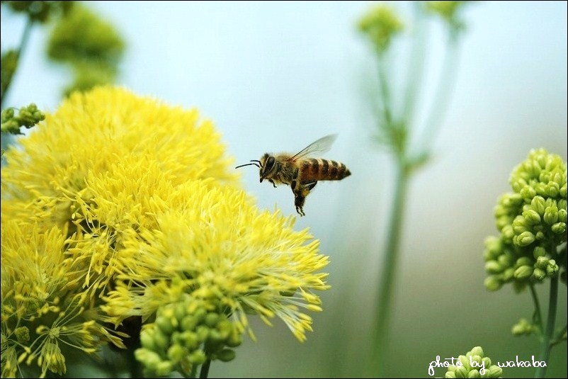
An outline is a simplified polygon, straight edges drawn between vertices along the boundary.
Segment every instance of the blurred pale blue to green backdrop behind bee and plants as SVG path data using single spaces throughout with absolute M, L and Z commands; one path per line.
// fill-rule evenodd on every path
M 264 152 L 297 152 L 338 133 L 325 157 L 352 175 L 319 183 L 305 217 L 330 256 L 331 290 L 324 312 L 300 344 L 282 322 L 254 320 L 257 342 L 245 339 L 237 359 L 215 362 L 211 377 L 347 377 L 364 375 L 375 290 L 392 197 L 389 154 L 371 139 L 375 120 L 368 84 L 373 52 L 357 21 L 368 1 L 138 2 L 85 1 L 123 36 L 126 52 L 118 84 L 171 105 L 197 107 L 222 133 L 235 165 Z M 403 15 L 407 2 L 392 4 Z M 464 12 L 459 69 L 434 157 L 411 179 L 394 283 L 388 376 L 427 377 L 428 363 L 482 346 L 494 361 L 538 355 L 533 337 L 511 326 L 530 319 L 529 293 L 511 286 L 489 293 L 482 251 L 496 234 L 493 208 L 510 191 L 514 166 L 532 148 L 567 160 L 567 3 L 474 2 Z M 16 45 L 24 18 L 4 7 L 2 48 Z M 440 72 L 445 39 L 430 25 L 428 83 Z M 34 28 L 6 106 L 35 102 L 53 111 L 68 72 L 45 58 L 46 28 Z M 404 34 L 401 39 L 404 39 Z M 397 61 L 407 58 L 397 50 Z M 397 75 L 397 66 L 392 66 Z M 421 105 L 422 106 L 422 105 Z M 419 112 L 420 115 L 420 112 Z M 244 188 L 261 208 L 295 215 L 289 188 L 259 183 L 258 169 L 242 169 Z M 541 302 L 548 286 L 541 285 Z M 566 324 L 566 285 L 560 285 L 557 325 Z M 566 377 L 567 344 L 552 350 L 549 377 Z M 73 368 L 70 368 L 73 370 Z M 88 376 L 80 368 L 76 375 Z M 445 369 L 438 368 L 436 376 Z M 531 368 L 506 368 L 504 377 L 528 378 Z

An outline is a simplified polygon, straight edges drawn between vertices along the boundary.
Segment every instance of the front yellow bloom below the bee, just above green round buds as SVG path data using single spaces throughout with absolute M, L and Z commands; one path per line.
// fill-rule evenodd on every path
M 104 308 L 114 322 L 147 319 L 189 294 L 220 303 L 241 332 L 251 332 L 246 312 L 253 312 L 268 324 L 279 317 L 304 341 L 312 330 L 305 311 L 321 310 L 312 291 L 329 288 L 327 274 L 317 273 L 328 263 L 319 242 L 307 230 L 292 230 L 292 218 L 259 211 L 235 188 L 192 181 L 168 203 L 171 208 L 156 215 L 156 228 L 125 238 L 118 259 L 127 270 Z

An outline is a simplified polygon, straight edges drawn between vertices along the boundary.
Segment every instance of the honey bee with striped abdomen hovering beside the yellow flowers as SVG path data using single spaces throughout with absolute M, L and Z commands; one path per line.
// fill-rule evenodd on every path
M 331 159 L 313 158 L 329 150 L 337 135 L 326 135 L 308 145 L 295 155 L 288 153 L 264 154 L 260 160 L 251 159 L 252 163 L 235 167 L 257 166 L 260 169 L 261 183 L 264 179 L 276 184 L 290 185 L 294 193 L 294 204 L 300 216 L 305 216 L 303 207 L 306 196 L 318 181 L 341 180 L 351 175 L 345 164 Z

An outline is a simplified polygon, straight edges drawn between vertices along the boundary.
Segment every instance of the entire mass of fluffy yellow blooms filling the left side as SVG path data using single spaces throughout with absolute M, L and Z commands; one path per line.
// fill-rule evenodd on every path
M 98 87 L 70 96 L 20 142 L 1 173 L 3 377 L 34 361 L 41 375 L 64 373 L 61 346 L 124 347 L 109 322 L 149 323 L 181 300 L 193 304 L 184 317 L 195 304 L 215 308 L 203 319 L 211 330 L 215 318 L 225 320 L 215 330 L 230 321 L 252 335 L 248 313 L 283 319 L 305 339 L 305 310 L 321 310 L 312 290 L 329 287 L 317 273 L 327 257 L 307 230 L 239 189 L 219 133 L 197 111 Z M 192 351 L 226 360 L 210 333 Z M 183 356 L 186 345 L 172 341 Z

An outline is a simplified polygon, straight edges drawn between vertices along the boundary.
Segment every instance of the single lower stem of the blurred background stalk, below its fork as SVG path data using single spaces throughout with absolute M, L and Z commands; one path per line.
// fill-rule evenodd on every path
M 377 324 L 375 324 L 373 339 L 373 364 L 375 372 L 373 376 L 382 377 L 385 371 L 385 359 L 387 353 L 387 339 L 389 336 L 389 318 L 392 308 L 392 284 L 397 273 L 399 261 L 400 236 L 402 234 L 402 220 L 404 217 L 404 205 L 408 188 L 409 174 L 404 159 L 399 159 L 397 167 L 397 181 L 394 187 L 394 202 L 390 213 L 387 232 L 387 244 L 382 263 L 382 276 L 380 290 L 375 299 Z

